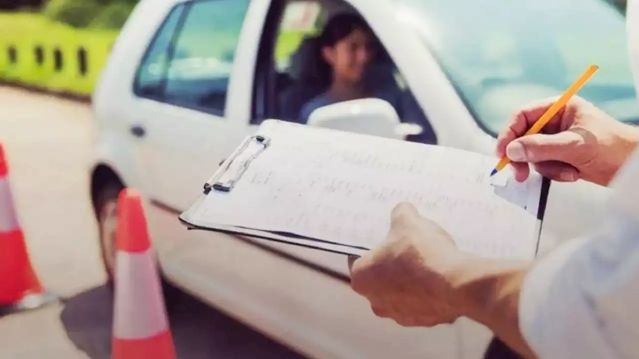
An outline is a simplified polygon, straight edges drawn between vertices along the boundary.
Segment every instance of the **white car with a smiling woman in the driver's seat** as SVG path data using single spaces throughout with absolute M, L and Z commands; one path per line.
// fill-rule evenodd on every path
M 375 317 L 351 291 L 344 256 L 178 220 L 261 121 L 288 119 L 321 91 L 315 29 L 339 11 L 362 15 L 385 50 L 376 86 L 404 91 L 419 112 L 401 119 L 422 128 L 409 141 L 492 154 L 516 107 L 559 95 L 589 63 L 600 70 L 580 95 L 639 119 L 624 18 L 601 0 L 142 0 L 93 94 L 105 268 L 116 196 L 133 187 L 167 282 L 304 355 L 481 358 L 491 333 L 473 321 L 403 328 Z M 542 250 L 597 227 L 607 193 L 553 183 Z

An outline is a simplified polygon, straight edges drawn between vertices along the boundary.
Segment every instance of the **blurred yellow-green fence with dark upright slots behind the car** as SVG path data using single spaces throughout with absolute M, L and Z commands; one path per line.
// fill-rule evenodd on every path
M 0 79 L 90 95 L 118 31 L 74 29 L 38 14 L 0 13 Z

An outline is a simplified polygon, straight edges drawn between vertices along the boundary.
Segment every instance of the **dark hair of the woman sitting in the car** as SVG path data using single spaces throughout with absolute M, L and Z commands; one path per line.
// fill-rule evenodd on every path
M 320 78 L 327 79 L 330 82 L 332 76 L 332 68 L 322 54 L 323 47 L 335 46 L 337 42 L 343 40 L 355 30 L 373 34 L 366 20 L 354 13 L 339 13 L 328 20 L 318 38 L 317 56 Z

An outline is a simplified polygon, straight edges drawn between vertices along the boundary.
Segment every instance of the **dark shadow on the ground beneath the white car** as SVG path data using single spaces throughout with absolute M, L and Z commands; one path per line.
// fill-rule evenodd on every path
M 66 334 L 91 359 L 111 358 L 112 307 L 106 286 L 65 300 Z M 181 359 L 304 358 L 185 293 L 173 298 L 169 321 Z

